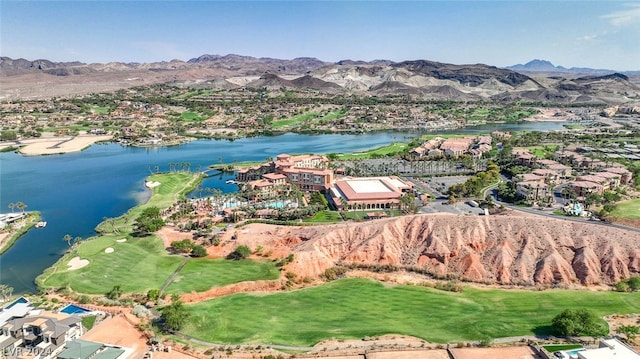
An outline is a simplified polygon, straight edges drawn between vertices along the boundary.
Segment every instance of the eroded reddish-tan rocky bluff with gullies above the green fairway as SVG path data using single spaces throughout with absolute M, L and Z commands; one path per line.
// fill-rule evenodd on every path
M 260 237 L 285 238 L 294 270 L 308 275 L 392 264 L 478 282 L 594 285 L 640 272 L 640 233 L 536 217 L 416 215 L 270 233 Z

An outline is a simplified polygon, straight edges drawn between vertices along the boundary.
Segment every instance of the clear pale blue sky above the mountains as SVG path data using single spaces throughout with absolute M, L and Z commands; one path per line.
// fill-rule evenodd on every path
M 638 1 L 0 0 L 0 55 L 152 62 L 202 54 L 640 70 Z

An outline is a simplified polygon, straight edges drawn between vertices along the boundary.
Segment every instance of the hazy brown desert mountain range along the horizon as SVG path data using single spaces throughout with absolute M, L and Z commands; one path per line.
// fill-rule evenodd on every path
M 311 89 L 359 95 L 410 95 L 427 99 L 626 103 L 640 101 L 631 77 L 607 70 L 579 73 L 534 60 L 498 68 L 414 60 L 325 62 L 241 55 L 202 55 L 188 61 L 85 64 L 0 58 L 0 99 L 111 91 L 170 82 L 180 86 Z

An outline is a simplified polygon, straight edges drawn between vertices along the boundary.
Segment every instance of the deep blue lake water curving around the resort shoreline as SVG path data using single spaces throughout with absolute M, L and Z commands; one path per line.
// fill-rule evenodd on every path
M 512 126 L 512 125 L 509 125 Z M 522 125 L 524 126 L 524 125 Z M 559 129 L 561 123 L 526 124 L 526 130 Z M 481 129 L 502 130 L 503 125 Z M 522 127 L 518 128 L 522 129 Z M 478 129 L 458 133 L 477 133 Z M 205 169 L 220 160 L 262 161 L 280 153 L 354 152 L 407 141 L 418 134 L 377 132 L 361 135 L 296 135 L 254 137 L 233 142 L 199 140 L 181 146 L 158 148 L 122 147 L 97 144 L 89 149 L 65 155 L 25 157 L 15 153 L 0 154 L 0 212 L 8 204 L 24 202 L 27 210 L 38 210 L 47 221 L 46 228 L 32 229 L 0 256 L 0 283 L 14 292 L 34 292 L 33 280 L 55 263 L 67 250 L 62 240 L 90 237 L 104 217 L 117 217 L 129 208 L 146 201 L 149 192 L 144 180 L 149 169 L 159 166 L 167 171 L 171 162 L 189 162 L 191 170 Z M 223 192 L 237 190 L 225 181 L 232 174 L 207 178 L 203 187 Z

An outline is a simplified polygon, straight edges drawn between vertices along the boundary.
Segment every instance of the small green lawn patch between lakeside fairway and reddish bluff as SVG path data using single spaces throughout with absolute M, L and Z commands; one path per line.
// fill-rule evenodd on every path
M 167 288 L 167 293 L 204 292 L 227 284 L 277 279 L 280 270 L 269 260 L 192 258 Z

